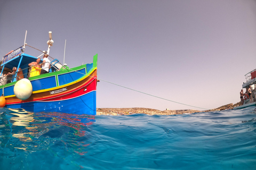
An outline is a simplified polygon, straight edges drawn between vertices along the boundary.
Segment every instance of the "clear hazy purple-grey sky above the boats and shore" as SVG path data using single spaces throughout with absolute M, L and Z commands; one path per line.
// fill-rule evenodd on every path
M 75 67 L 98 54 L 97 107 L 237 103 L 256 69 L 256 1 L 0 0 L 0 57 L 26 43 Z M 41 53 L 26 48 L 25 53 Z M 104 80 L 104 81 L 103 81 Z M 202 109 L 201 109 L 202 110 Z

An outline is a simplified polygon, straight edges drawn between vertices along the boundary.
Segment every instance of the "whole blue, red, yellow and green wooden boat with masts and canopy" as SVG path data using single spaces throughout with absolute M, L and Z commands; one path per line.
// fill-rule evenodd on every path
M 51 32 L 49 37 L 48 50 L 42 55 L 49 55 L 53 43 Z M 24 43 L 22 47 L 3 57 L 0 75 L 2 107 L 23 108 L 31 112 L 96 115 L 97 54 L 93 56 L 92 63 L 71 69 L 66 64 L 60 64 L 55 58 L 50 62 L 49 73 L 30 77 L 28 64 L 35 62 L 40 56 L 25 54 L 26 46 Z M 42 62 L 41 60 L 40 63 Z M 17 67 L 17 71 L 9 75 L 4 74 L 11 72 L 13 67 Z M 20 72 L 23 75 L 21 80 L 18 79 L 21 77 Z

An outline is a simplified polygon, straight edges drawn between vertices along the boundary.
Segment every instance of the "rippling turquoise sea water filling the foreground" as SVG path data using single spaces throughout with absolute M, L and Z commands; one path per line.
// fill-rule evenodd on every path
M 2 108 L 0 169 L 256 169 L 256 107 L 170 116 Z

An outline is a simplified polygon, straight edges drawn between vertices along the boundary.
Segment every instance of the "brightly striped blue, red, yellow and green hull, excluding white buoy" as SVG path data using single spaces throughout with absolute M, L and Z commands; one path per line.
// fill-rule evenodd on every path
M 26 100 L 14 95 L 15 82 L 1 86 L 7 108 L 31 112 L 96 115 L 97 55 L 93 63 L 29 78 L 33 93 Z

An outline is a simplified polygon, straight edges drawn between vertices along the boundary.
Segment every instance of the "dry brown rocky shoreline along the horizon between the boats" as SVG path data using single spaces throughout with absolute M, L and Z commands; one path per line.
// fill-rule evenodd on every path
M 97 115 L 131 115 L 136 113 L 143 113 L 148 115 L 179 115 L 179 114 L 189 114 L 189 113 L 198 113 L 198 112 L 211 112 L 211 111 L 223 111 L 226 109 L 233 109 L 236 106 L 239 106 L 240 102 L 236 103 L 235 105 L 228 104 L 224 105 L 215 109 L 207 110 L 207 111 L 198 111 L 198 110 L 166 110 L 166 111 L 159 111 L 157 109 L 151 108 L 97 108 Z

